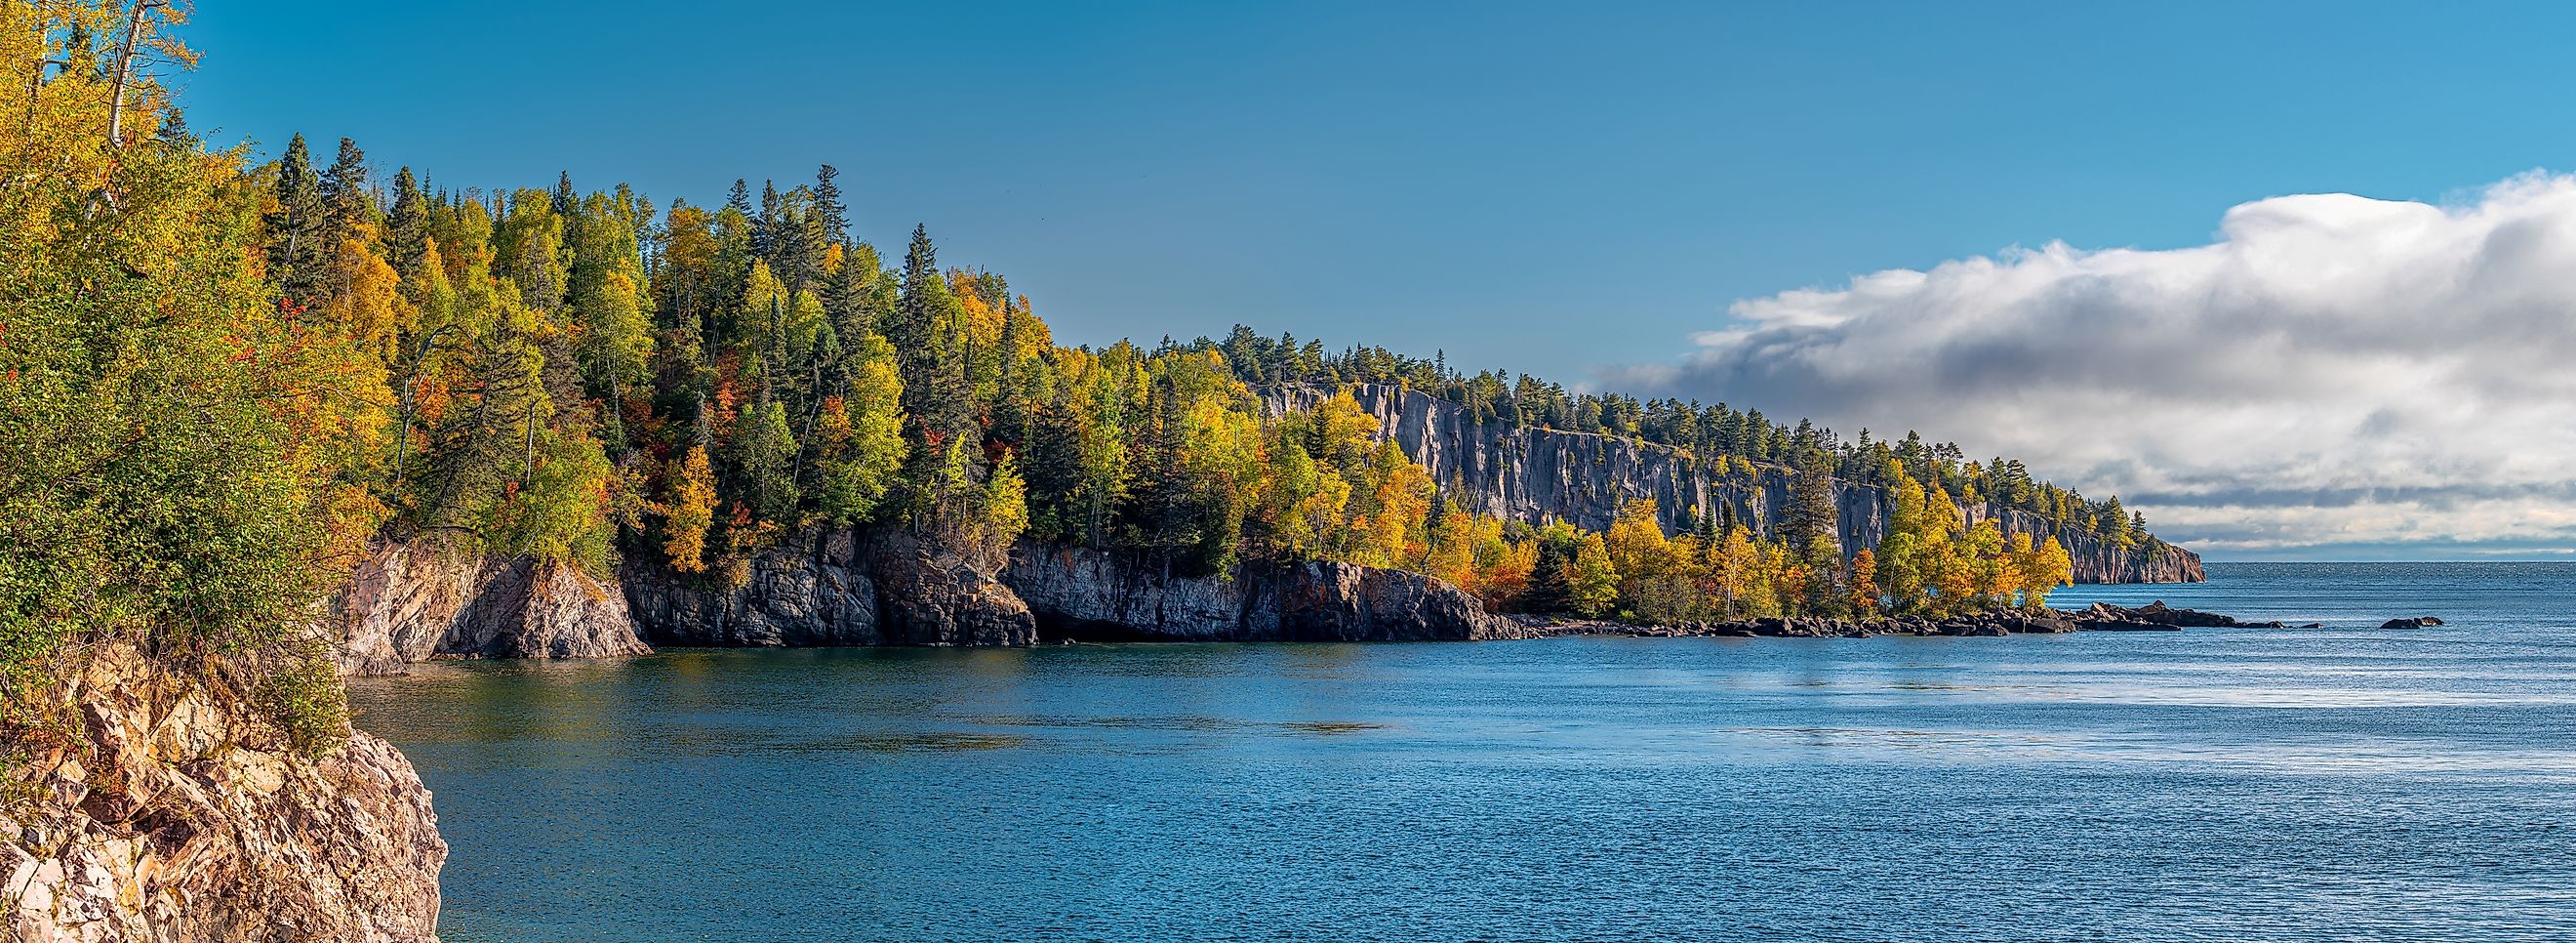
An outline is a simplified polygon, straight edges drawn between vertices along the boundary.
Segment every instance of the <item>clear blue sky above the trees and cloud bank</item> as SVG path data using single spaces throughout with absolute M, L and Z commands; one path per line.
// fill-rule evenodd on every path
M 1741 299 L 2463 201 L 2576 147 L 2576 8 L 2537 3 L 708 8 L 206 3 L 183 85 L 219 142 L 459 188 L 835 162 L 866 237 L 927 222 L 1066 343 L 1249 322 L 1577 384 L 1672 381 L 1623 368 Z

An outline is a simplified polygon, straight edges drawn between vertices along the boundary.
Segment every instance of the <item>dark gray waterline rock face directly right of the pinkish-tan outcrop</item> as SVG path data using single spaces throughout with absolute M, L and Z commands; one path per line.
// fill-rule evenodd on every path
M 806 531 L 739 585 L 629 564 L 626 603 L 662 644 L 1038 644 L 1028 605 L 987 567 L 902 531 Z

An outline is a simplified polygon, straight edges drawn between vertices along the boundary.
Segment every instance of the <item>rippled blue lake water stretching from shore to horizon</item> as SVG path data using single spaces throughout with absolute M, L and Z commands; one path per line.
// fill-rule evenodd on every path
M 353 701 L 438 794 L 448 940 L 2576 938 L 2576 564 L 2210 577 L 2056 600 L 2329 629 L 688 649 Z

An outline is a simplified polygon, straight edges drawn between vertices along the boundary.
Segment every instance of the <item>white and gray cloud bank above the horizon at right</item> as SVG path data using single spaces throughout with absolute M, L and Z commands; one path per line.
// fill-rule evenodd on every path
M 2213 551 L 2576 546 L 2576 178 L 2228 209 L 2210 245 L 2007 250 L 1736 301 L 1700 399 L 1973 456 Z

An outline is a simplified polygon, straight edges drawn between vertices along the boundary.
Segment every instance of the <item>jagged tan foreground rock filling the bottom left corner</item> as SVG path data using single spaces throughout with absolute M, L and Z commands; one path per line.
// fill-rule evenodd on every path
M 222 680 L 124 644 L 62 688 L 82 734 L 26 742 L 0 806 L 13 940 L 435 940 L 448 848 L 384 739 L 307 757 Z

